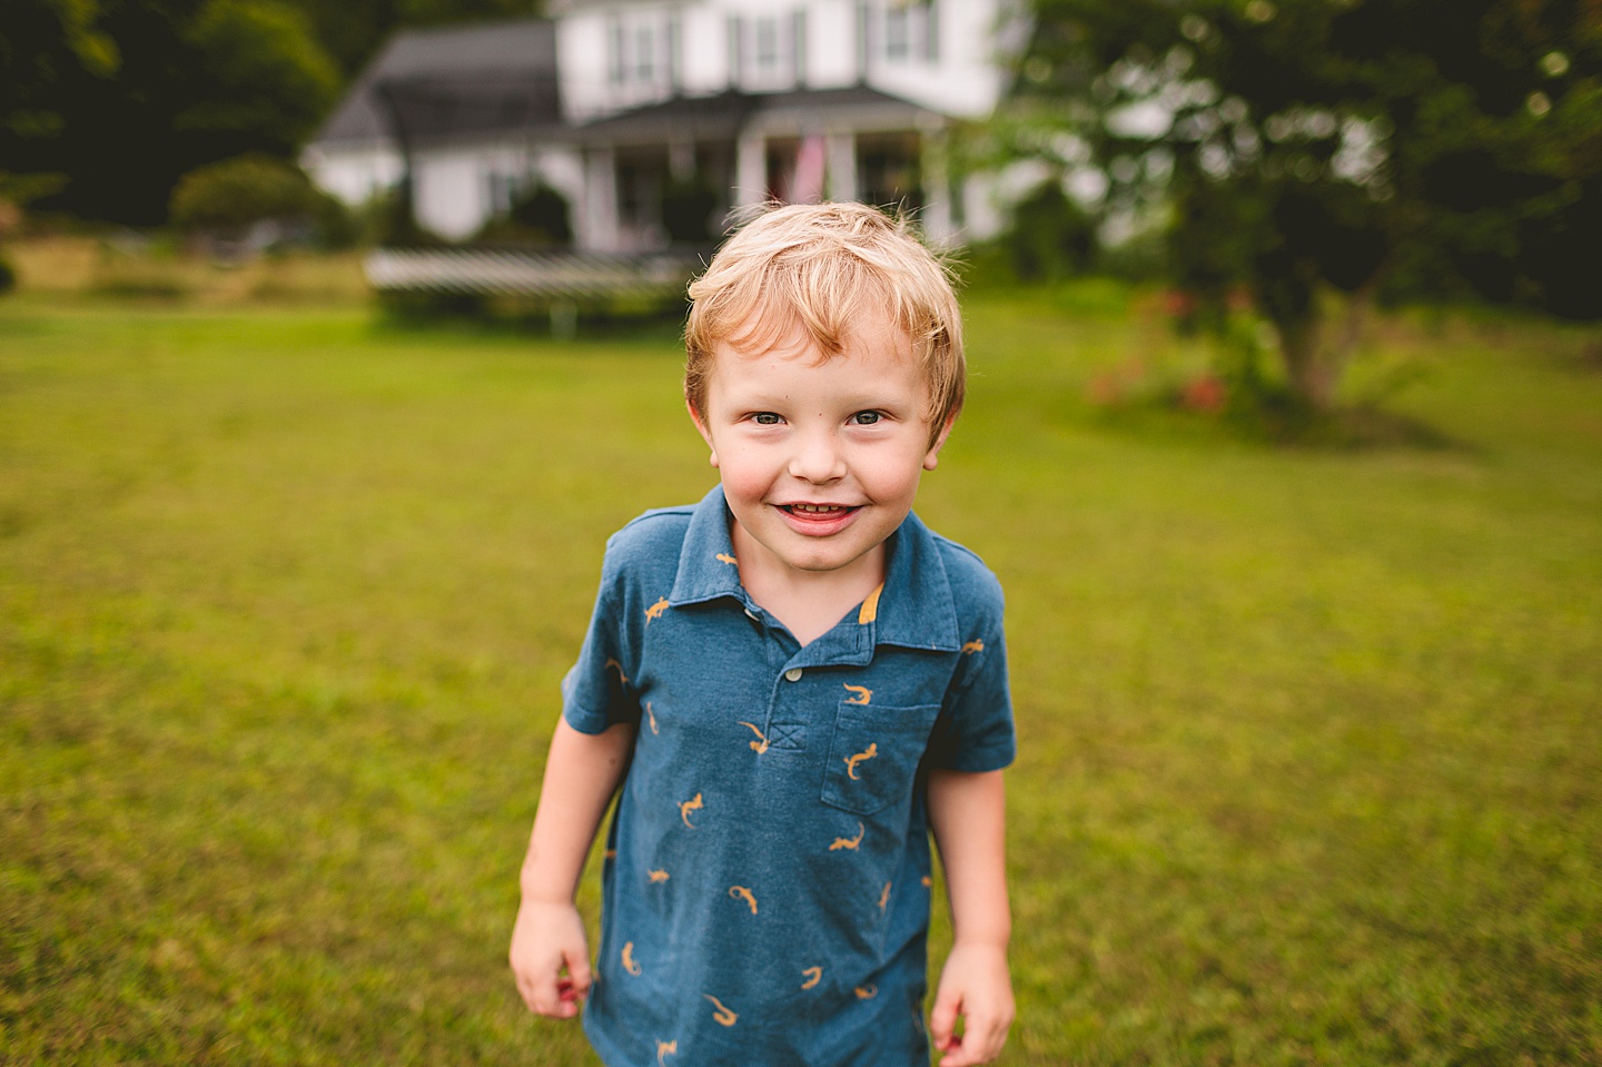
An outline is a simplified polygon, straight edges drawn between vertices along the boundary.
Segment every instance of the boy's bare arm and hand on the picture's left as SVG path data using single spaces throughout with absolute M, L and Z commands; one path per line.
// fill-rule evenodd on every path
M 582 734 L 562 719 L 551 737 L 509 953 L 517 992 L 541 1016 L 572 1019 L 590 992 L 590 947 L 574 894 L 633 743 L 628 724 Z

